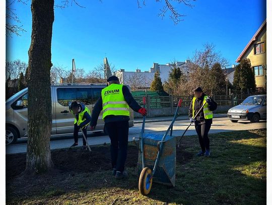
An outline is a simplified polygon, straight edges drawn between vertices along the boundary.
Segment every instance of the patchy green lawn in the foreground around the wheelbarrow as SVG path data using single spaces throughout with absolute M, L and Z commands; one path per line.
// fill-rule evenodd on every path
M 126 181 L 115 180 L 109 170 L 81 173 L 63 179 L 70 189 L 41 188 L 32 195 L 9 197 L 7 203 L 265 204 L 266 130 L 210 134 L 210 144 L 210 158 L 196 157 L 198 139 L 185 136 L 182 149 L 191 157 L 182 163 L 177 161 L 176 186 L 154 183 L 148 196 L 139 193 L 137 168 L 133 167 L 128 168 Z

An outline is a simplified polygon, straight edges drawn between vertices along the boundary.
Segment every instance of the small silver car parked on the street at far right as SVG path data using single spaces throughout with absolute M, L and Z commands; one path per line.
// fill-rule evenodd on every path
M 266 95 L 247 97 L 240 105 L 229 109 L 228 118 L 232 122 L 238 120 L 258 122 L 260 119 L 266 119 Z

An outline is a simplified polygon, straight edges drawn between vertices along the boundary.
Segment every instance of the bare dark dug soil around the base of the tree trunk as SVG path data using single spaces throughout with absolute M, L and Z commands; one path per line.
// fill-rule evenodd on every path
M 59 149 L 51 151 L 51 159 L 55 169 L 60 173 L 66 172 L 94 172 L 99 170 L 110 170 L 110 146 L 92 147 L 89 150 L 80 148 Z M 136 167 L 138 162 L 138 149 L 128 146 L 126 167 Z M 6 155 L 6 179 L 12 179 L 25 170 L 26 153 Z

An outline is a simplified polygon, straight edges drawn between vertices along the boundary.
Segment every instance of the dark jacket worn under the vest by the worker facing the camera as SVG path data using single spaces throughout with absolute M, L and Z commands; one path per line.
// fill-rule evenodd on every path
M 195 99 L 195 103 L 194 103 L 195 113 L 194 114 L 196 114 L 199 111 L 199 109 L 201 108 L 201 106 L 203 105 L 203 100 L 204 100 L 205 95 L 206 94 L 203 93 L 200 98 Z M 211 111 L 214 111 L 217 108 L 217 103 L 212 98 L 211 98 L 211 101 L 212 102 L 209 105 L 209 109 Z M 190 104 L 190 107 L 189 107 L 189 113 L 188 113 L 189 118 L 192 117 L 192 112 L 193 112 L 193 110 L 192 110 L 192 101 L 191 101 L 191 104 Z M 205 119 L 203 109 L 199 112 L 199 114 L 196 116 L 195 119 L 196 119 L 196 122 L 201 123 L 201 124 L 205 123 L 206 121 L 213 122 L 213 119 Z

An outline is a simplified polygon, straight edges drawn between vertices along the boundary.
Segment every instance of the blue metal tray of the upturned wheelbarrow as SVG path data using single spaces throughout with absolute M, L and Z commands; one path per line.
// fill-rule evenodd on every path
M 160 142 L 163 134 L 144 133 L 144 156 L 145 166 L 153 170 L 155 160 L 158 154 Z M 139 143 L 140 146 L 140 143 Z M 142 155 L 139 151 L 138 156 L 138 175 L 143 170 Z M 153 176 L 153 181 L 167 186 L 175 186 L 176 180 L 176 138 L 167 135 L 159 158 L 158 166 Z

